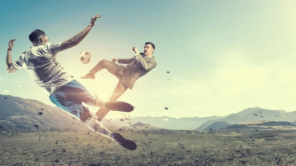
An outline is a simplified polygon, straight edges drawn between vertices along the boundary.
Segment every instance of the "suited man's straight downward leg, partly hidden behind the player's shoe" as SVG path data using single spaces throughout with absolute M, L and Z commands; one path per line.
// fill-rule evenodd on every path
M 125 91 L 127 90 L 127 87 L 122 84 L 121 79 L 118 81 L 113 93 L 111 94 L 109 100 L 110 101 L 116 101 Z M 100 108 L 96 115 L 98 117 L 98 121 L 102 121 L 102 119 L 109 113 L 109 109 L 107 108 Z

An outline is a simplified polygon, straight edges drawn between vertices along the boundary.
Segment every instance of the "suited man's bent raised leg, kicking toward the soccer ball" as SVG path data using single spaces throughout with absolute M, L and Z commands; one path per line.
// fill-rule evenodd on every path
M 102 70 L 103 68 L 106 68 L 109 72 L 111 72 L 113 75 L 115 75 L 118 78 L 117 71 L 120 70 L 123 66 L 120 66 L 118 64 L 115 64 L 108 60 L 102 60 L 100 61 L 94 68 L 92 68 L 88 74 L 85 76 L 80 77 L 81 79 L 95 79 L 95 74 Z

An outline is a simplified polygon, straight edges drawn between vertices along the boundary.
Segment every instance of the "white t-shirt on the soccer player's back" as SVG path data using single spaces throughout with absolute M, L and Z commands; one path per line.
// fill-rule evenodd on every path
M 12 64 L 15 68 L 25 68 L 33 80 L 45 91 L 49 97 L 63 85 L 74 78 L 56 61 L 60 52 L 61 42 L 32 46 Z

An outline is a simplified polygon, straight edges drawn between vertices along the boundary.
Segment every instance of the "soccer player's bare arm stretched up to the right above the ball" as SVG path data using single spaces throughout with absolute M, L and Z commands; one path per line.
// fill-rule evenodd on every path
M 69 40 L 62 42 L 60 51 L 67 50 L 68 48 L 74 47 L 75 45 L 80 43 L 85 38 L 85 36 L 90 32 L 93 26 L 95 26 L 95 22 L 97 18 L 101 18 L 101 16 L 98 14 L 93 16 L 91 18 L 90 24 L 86 28 L 84 28 L 80 33 L 77 33 L 76 35 L 71 37 Z

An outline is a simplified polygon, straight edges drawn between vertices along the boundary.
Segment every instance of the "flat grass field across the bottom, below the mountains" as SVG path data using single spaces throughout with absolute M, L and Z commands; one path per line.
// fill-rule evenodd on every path
M 122 133 L 129 151 L 95 133 L 0 134 L 0 166 L 295 166 L 295 132 Z

